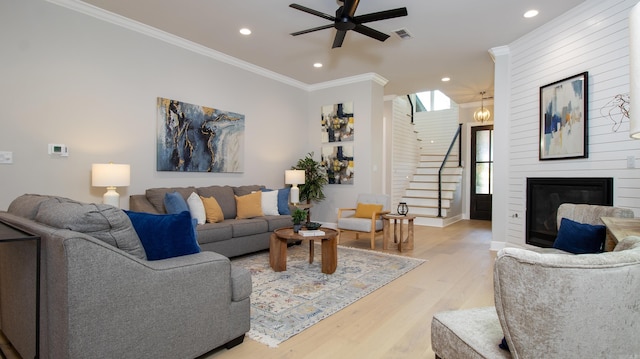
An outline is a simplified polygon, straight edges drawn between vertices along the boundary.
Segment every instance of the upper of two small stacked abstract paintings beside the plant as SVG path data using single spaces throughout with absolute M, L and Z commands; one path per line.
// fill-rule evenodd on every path
M 322 106 L 322 143 L 353 141 L 353 102 Z

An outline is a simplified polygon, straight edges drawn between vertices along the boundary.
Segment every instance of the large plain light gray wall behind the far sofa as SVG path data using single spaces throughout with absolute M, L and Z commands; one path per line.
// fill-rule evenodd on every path
M 96 162 L 131 164 L 131 186 L 118 190 L 123 208 L 129 194 L 150 187 L 282 187 L 284 170 L 317 148 L 301 118 L 307 90 L 91 16 L 41 0 L 2 1 L 0 44 L 0 151 L 14 158 L 0 164 L 3 209 L 23 193 L 99 202 L 104 189 L 90 186 Z M 244 114 L 244 173 L 157 172 L 156 97 Z M 305 135 L 291 136 L 292 124 Z M 48 143 L 66 144 L 70 156 L 50 157 Z

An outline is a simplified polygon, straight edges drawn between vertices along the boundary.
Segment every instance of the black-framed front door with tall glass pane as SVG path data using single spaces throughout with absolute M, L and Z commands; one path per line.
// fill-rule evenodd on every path
M 469 218 L 491 220 L 493 200 L 493 125 L 471 128 Z

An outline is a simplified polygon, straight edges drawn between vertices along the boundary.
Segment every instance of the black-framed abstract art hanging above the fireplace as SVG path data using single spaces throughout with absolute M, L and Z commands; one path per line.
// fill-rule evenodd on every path
M 588 157 L 589 73 L 540 87 L 540 160 Z

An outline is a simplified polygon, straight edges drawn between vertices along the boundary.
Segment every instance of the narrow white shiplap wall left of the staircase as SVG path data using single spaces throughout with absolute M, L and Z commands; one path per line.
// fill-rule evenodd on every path
M 406 97 L 396 97 L 392 107 L 391 208 L 394 210 L 409 187 L 420 157 L 415 125 L 411 124 L 411 107 Z

